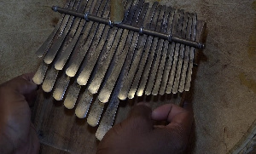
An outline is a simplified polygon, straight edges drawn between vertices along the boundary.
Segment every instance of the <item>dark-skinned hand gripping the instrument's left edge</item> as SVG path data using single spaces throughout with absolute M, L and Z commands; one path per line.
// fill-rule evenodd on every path
M 0 85 L 0 153 L 38 153 L 38 135 L 31 123 L 37 85 L 33 74 Z

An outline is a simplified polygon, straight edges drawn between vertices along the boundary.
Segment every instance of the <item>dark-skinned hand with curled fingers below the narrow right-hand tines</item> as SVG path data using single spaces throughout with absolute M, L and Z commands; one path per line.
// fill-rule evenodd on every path
M 183 153 L 193 123 L 191 104 L 185 103 L 183 107 L 166 104 L 151 111 L 139 103 L 125 121 L 108 131 L 97 154 Z M 168 124 L 156 126 L 153 121 Z

